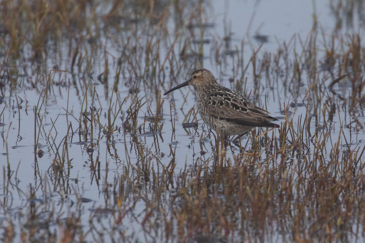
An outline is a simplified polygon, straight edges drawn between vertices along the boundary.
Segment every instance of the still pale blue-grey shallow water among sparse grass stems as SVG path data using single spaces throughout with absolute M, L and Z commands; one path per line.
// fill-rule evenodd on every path
M 197 9 L 195 2 L 185 4 L 189 10 Z M 46 229 L 49 235 L 55 234 L 56 238 L 65 235 L 65 231 L 59 228 L 61 221 L 66 222 L 68 227 L 83 228 L 85 238 L 78 235 L 79 241 L 176 242 L 176 224 L 171 226 L 173 230 L 170 233 L 166 230 L 166 225 L 154 228 L 151 226 L 153 223 L 150 223 L 150 228 L 147 229 L 145 222 L 148 213 L 153 213 L 151 217 L 157 222 L 162 222 L 164 217 L 172 217 L 173 213 L 166 202 L 170 197 L 181 193 L 176 188 L 177 185 L 172 183 L 164 193 L 160 192 L 162 199 L 154 201 L 157 192 L 153 189 L 153 183 L 150 183 L 154 181 L 154 176 L 162 177 L 161 171 L 167 167 L 172 168 L 174 177 L 178 178 L 186 168 L 194 171 L 201 164 L 213 163 L 216 158 L 214 133 L 207 132 L 199 115 L 197 127 L 184 129 L 182 125 L 185 115 L 195 105 L 193 88 L 184 87 L 167 96 L 161 94 L 184 82 L 196 67 L 211 70 L 221 85 L 249 95 L 251 101 L 265 107 L 279 120 L 277 124 L 285 122 L 284 106 L 289 106 L 288 119 L 293 120 L 295 128 L 302 126 L 308 110 L 308 116 L 312 116 L 312 119 L 303 136 L 308 158 L 318 150 L 318 144 L 312 141 L 322 141 L 324 136 L 327 136 L 324 138 L 325 149 L 320 152 L 323 160 L 330 160 L 331 151 L 337 141 L 340 142 L 339 146 L 342 146 L 344 154 L 350 149 L 360 149 L 361 152 L 364 146 L 364 129 L 353 123 L 353 117 L 360 124 L 364 124 L 364 115 L 361 109 L 348 112 L 348 104 L 341 101 L 341 97 L 351 97 L 352 84 L 346 80 L 335 84 L 333 90 L 337 95 L 330 94 L 327 89 L 331 82 L 330 73 L 337 72 L 338 64 L 331 71 L 326 70 L 326 65 L 322 65 L 324 70 L 317 70 L 318 79 L 323 81 L 323 86 L 318 87 L 322 92 L 316 97 L 321 102 L 319 105 L 314 105 L 315 102 L 312 101 L 316 93 L 308 91 L 314 89 L 311 86 L 311 73 L 314 72 L 311 59 L 303 61 L 308 64 L 308 68 L 301 69 L 300 79 L 293 74 L 292 68 L 296 64 L 295 57 L 305 59 L 303 46 L 313 39 L 316 40 L 313 45 L 317 46 L 319 67 L 321 62 L 325 63 L 326 45 L 323 43 L 331 43 L 331 36 L 336 37 L 335 45 L 340 45 L 341 38 L 349 38 L 346 34 L 359 33 L 362 36 L 364 28 L 359 20 L 361 16 L 354 15 L 353 27 L 343 23 L 342 28 L 336 29 L 334 14 L 328 3 L 323 1 L 315 2 L 315 6 L 303 1 L 204 2 L 202 19 L 207 26 L 204 28 L 203 39 L 207 43 L 203 44 L 203 52 L 199 57 L 191 54 L 199 52 L 200 28 L 189 30 L 188 25 L 201 24 L 196 21 L 198 18 L 192 18 L 192 23 L 187 23 L 191 11 L 178 16 L 171 6 L 170 15 L 165 20 L 168 24 L 166 28 L 160 29 L 156 27 L 158 24 L 162 25 L 158 23 L 158 18 L 157 25 L 143 17 L 136 21 L 121 17 L 115 23 L 108 23 L 103 20 L 104 14 L 108 12 L 106 7 L 96 7 L 99 10 L 96 11 L 99 13 L 96 16 L 100 26 L 92 26 L 90 32 L 81 33 L 83 36 L 77 36 L 79 39 L 72 40 L 72 44 L 69 44 L 67 38 L 49 40 L 45 47 L 47 51 L 38 60 L 32 58 L 30 45 L 24 44 L 20 58 L 12 63 L 5 59 L 3 61 L 8 77 L 2 81 L 5 84 L 1 88 L 4 101 L 0 104 L 0 111 L 4 108 L 0 119 L 3 124 L 0 160 L 4 171 L 4 179 L 0 184 L 4 188 L 1 193 L 1 217 L 4 227 L 4 222 L 10 215 L 17 215 L 14 220 L 17 223 L 15 241 L 22 238 L 20 231 L 32 229 L 35 224 L 37 230 Z M 130 8 L 133 7 L 131 4 Z M 92 9 L 93 6 L 89 8 Z M 163 13 L 157 11 L 157 16 L 161 16 L 160 14 Z M 314 16 L 318 21 L 316 28 Z M 89 18 L 87 15 L 86 19 Z M 314 35 L 317 37 L 314 38 Z M 65 34 L 66 36 L 68 35 Z M 184 41 L 197 44 L 187 45 L 185 57 L 181 58 L 179 54 Z M 78 42 L 84 43 L 82 47 L 77 48 Z M 170 49 L 171 46 L 174 47 Z M 149 48 L 151 52 L 146 54 Z M 77 55 L 72 70 L 75 50 Z M 257 50 L 257 66 L 253 68 L 250 58 Z M 279 53 L 288 55 L 288 58 L 279 60 L 277 67 L 280 70 L 275 70 L 273 66 L 260 69 L 265 66 L 265 55 L 270 56 L 271 62 L 274 62 Z M 107 66 L 105 63 L 108 63 Z M 244 72 L 246 65 L 248 68 Z M 108 76 L 103 81 L 106 70 Z M 98 78 L 103 72 L 104 75 Z M 5 72 L 3 75 L 6 76 Z M 133 94 L 131 90 L 139 92 Z M 323 95 L 325 93 L 327 94 Z M 155 124 L 153 116 L 156 114 L 160 95 L 161 103 L 163 101 L 161 118 Z M 320 97 L 321 95 L 323 96 Z M 138 105 L 138 101 L 141 101 L 139 109 L 134 107 Z M 326 102 L 328 106 L 324 105 Z M 121 104 L 123 105 L 118 111 Z M 329 124 L 327 121 L 331 104 L 336 106 L 334 123 Z M 91 116 L 91 109 L 94 117 Z M 110 141 L 107 139 L 108 129 L 103 129 L 108 125 L 108 110 L 111 111 L 111 123 L 116 114 L 115 124 L 112 126 L 115 131 L 111 133 Z M 130 110 L 138 110 L 138 114 L 134 114 L 137 116 L 134 119 L 135 127 L 133 119 L 128 118 Z M 96 118 L 100 124 L 95 122 Z M 94 120 L 92 138 L 90 121 L 87 119 Z M 190 117 L 187 122 L 196 121 Z M 328 127 L 318 127 L 317 124 L 328 124 Z M 349 124 L 354 125 L 345 126 Z M 155 125 L 157 129 L 154 128 Z M 133 128 L 132 131 L 128 129 L 129 126 Z M 327 131 L 331 133 L 326 134 Z M 263 131 L 257 131 L 250 136 L 258 136 L 261 132 Z M 292 136 L 287 138 L 288 146 L 295 140 L 295 135 Z M 247 144 L 244 152 L 249 153 L 256 146 L 251 137 L 245 136 L 242 139 L 242 145 Z M 274 144 L 279 143 L 278 137 L 277 129 L 268 133 L 269 140 L 272 139 Z M 202 144 L 199 143 L 200 138 L 204 140 Z M 265 150 L 265 143 L 262 144 L 259 152 L 263 151 L 261 157 L 265 164 L 268 162 L 265 158 L 271 154 Z M 274 153 L 273 151 L 271 152 Z M 239 152 L 239 146 L 230 144 L 224 157 L 225 163 L 235 161 Z M 219 150 L 218 153 L 222 152 Z M 290 164 L 302 158 L 300 153 L 293 152 L 292 156 L 283 155 L 283 159 Z M 62 160 L 65 160 L 65 164 Z M 93 170 L 96 161 L 100 161 L 100 167 Z M 140 171 L 145 174 L 137 175 L 134 167 L 143 167 Z M 122 181 L 122 177 L 128 176 L 134 179 L 143 178 L 138 185 L 141 189 L 139 196 L 123 198 L 123 204 L 118 207 L 119 212 L 110 211 L 110 208 L 115 208 L 118 204 L 113 188 L 118 184 L 116 181 Z M 135 190 L 131 186 L 128 188 L 128 183 L 125 186 L 123 192 Z M 146 208 L 153 203 L 165 210 L 146 212 Z M 37 207 L 40 210 L 37 220 L 20 216 L 29 214 L 32 210 L 36 211 Z M 123 217 L 118 215 L 120 212 L 124 213 Z M 162 212 L 168 212 L 168 215 Z M 123 222 L 118 222 L 118 219 Z M 46 223 L 42 225 L 39 222 Z M 356 222 L 352 227 L 355 224 Z M 246 229 L 248 226 L 241 227 Z M 276 226 L 277 228 L 280 227 Z M 257 234 L 262 233 L 260 231 Z M 38 232 L 38 235 L 31 237 L 40 239 L 43 234 L 44 232 Z M 172 235 L 168 236 L 169 234 Z M 273 230 L 264 235 L 267 242 L 291 240 L 289 230 Z M 189 237 L 187 236 L 193 241 Z M 240 242 L 240 237 L 242 234 L 237 229 L 233 231 L 229 242 Z M 350 239 L 364 240 L 361 237 Z

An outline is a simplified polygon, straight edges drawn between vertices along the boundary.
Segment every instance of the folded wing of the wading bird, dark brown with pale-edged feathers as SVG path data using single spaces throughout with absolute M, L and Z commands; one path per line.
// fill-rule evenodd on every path
M 220 89 L 208 94 L 205 100 L 207 114 L 245 126 L 278 127 L 269 113 L 255 106 L 246 97 L 230 89 Z

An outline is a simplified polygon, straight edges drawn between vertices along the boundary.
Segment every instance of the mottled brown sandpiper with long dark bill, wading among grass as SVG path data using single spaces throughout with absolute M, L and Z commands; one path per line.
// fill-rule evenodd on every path
M 192 85 L 197 91 L 197 109 L 203 121 L 218 134 L 241 135 L 255 126 L 277 128 L 269 113 L 255 106 L 242 94 L 219 85 L 211 71 L 195 70 L 188 81 L 170 89 L 164 95 Z

